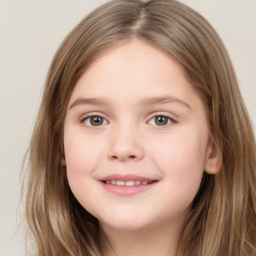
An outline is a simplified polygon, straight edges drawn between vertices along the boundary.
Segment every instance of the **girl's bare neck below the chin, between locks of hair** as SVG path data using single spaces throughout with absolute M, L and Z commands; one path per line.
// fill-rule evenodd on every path
M 116 229 L 100 224 L 103 256 L 176 256 L 182 226 L 162 223 L 139 230 Z

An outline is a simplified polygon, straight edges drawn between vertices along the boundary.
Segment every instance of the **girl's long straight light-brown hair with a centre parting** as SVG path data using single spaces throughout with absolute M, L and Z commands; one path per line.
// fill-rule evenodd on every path
M 48 71 L 28 158 L 26 217 L 37 255 L 101 255 L 97 220 L 68 186 L 63 120 L 72 89 L 106 48 L 137 38 L 175 58 L 201 96 L 221 169 L 204 173 L 178 244 L 190 256 L 256 255 L 256 149 L 226 49 L 211 25 L 176 0 L 113 0 L 87 15 Z

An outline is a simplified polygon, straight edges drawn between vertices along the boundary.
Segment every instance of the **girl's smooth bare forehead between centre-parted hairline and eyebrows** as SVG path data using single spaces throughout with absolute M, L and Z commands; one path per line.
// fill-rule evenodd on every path
M 169 85 L 173 85 L 173 93 L 192 89 L 177 61 L 148 43 L 132 40 L 112 46 L 96 58 L 78 79 L 71 98 L 79 94 L 150 96 L 147 92 L 166 93 Z

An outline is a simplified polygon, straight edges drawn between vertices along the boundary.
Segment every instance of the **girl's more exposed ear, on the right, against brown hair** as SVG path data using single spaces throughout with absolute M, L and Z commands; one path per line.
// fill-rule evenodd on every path
M 208 174 L 216 174 L 221 168 L 222 157 L 219 148 L 212 139 L 209 139 L 205 156 L 204 171 Z

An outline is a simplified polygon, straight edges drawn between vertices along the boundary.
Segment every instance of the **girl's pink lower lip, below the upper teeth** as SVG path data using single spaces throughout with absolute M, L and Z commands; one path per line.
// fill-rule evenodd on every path
M 151 187 L 153 187 L 157 181 L 154 181 L 150 184 L 146 184 L 146 185 L 134 185 L 134 186 L 125 186 L 125 185 L 112 185 L 112 184 L 106 184 L 102 181 L 100 181 L 102 186 L 104 187 L 104 189 L 106 189 L 107 191 L 117 194 L 117 195 L 134 195 L 134 194 L 138 194 L 141 193 L 143 191 L 146 191 L 148 189 L 150 189 Z

